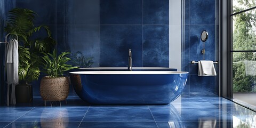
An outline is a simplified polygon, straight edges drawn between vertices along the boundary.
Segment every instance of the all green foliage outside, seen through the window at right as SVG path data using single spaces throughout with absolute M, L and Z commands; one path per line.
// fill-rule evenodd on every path
M 233 11 L 240 12 L 256 6 L 255 0 L 234 0 Z M 233 50 L 256 50 L 256 9 L 233 16 Z M 248 75 L 247 61 L 255 62 L 256 53 L 233 53 L 233 92 L 256 92 L 256 75 Z M 246 69 L 247 68 L 247 69 Z M 255 73 L 256 74 L 256 73 Z

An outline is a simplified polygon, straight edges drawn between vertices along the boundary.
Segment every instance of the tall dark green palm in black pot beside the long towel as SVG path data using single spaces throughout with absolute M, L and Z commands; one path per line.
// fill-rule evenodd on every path
M 14 8 L 8 12 L 6 27 L 4 28 L 6 33 L 19 37 L 19 85 L 17 86 L 22 89 L 30 86 L 30 90 L 32 90 L 32 86 L 28 83 L 38 80 L 41 72 L 39 67 L 42 62 L 42 53 L 50 52 L 56 44 L 49 27 L 44 25 L 34 26 L 36 15 L 34 11 L 29 9 Z M 43 33 L 46 33 L 45 37 L 38 37 L 38 35 L 44 35 Z M 17 95 L 17 92 L 21 93 Z M 30 91 L 30 93 L 32 92 Z M 30 94 L 30 98 L 27 100 L 22 97 L 27 97 L 25 92 L 16 90 L 17 103 L 33 101 L 33 94 Z

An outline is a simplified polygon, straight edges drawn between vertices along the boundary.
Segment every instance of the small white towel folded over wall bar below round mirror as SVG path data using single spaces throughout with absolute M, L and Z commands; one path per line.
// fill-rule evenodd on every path
M 198 61 L 198 76 L 217 76 L 213 61 L 201 60 Z

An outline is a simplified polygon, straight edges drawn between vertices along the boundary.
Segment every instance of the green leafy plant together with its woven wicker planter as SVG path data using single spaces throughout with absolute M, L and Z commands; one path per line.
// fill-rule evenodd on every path
M 40 94 L 44 101 L 61 101 L 68 97 L 69 81 L 68 77 L 64 77 L 63 73 L 70 69 L 75 69 L 66 63 L 70 60 L 67 57 L 69 52 L 62 52 L 57 56 L 57 51 L 53 53 L 43 53 L 44 60 L 43 71 L 49 76 L 41 79 Z

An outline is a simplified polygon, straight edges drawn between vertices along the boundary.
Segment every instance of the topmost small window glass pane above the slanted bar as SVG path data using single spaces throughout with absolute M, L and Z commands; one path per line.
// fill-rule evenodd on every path
M 240 12 L 256 6 L 255 0 L 233 0 L 233 13 Z

